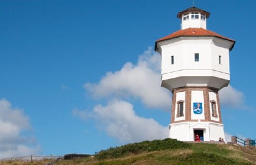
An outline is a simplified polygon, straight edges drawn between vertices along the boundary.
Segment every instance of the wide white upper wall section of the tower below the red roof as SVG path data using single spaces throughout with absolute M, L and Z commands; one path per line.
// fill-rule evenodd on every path
M 216 37 L 180 37 L 163 41 L 159 45 L 163 87 L 169 90 L 183 86 L 221 89 L 228 85 L 229 48 L 232 42 Z M 199 54 L 198 62 L 195 61 L 195 53 Z M 171 64 L 172 56 L 174 64 Z

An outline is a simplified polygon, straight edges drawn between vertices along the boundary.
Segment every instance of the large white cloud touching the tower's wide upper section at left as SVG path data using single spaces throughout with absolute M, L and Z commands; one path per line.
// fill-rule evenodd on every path
M 171 92 L 161 87 L 160 55 L 149 48 L 137 64 L 127 62 L 121 70 L 108 72 L 99 83 L 84 88 L 96 98 L 138 98 L 146 107 L 170 110 Z

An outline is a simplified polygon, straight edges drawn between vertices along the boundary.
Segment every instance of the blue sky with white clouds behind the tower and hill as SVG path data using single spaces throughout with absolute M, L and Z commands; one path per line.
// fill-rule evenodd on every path
M 152 47 L 180 29 L 176 15 L 191 4 L 0 1 L 0 157 L 93 154 L 165 136 L 171 93 L 160 88 L 160 57 Z M 255 5 L 195 1 L 212 13 L 209 30 L 236 40 L 222 119 L 227 133 L 252 139 Z

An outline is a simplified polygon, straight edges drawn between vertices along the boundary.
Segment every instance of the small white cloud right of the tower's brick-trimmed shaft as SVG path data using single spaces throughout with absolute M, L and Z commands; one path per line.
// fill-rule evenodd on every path
M 243 92 L 236 90 L 231 85 L 221 89 L 219 94 L 220 103 L 222 106 L 231 108 L 245 108 Z

